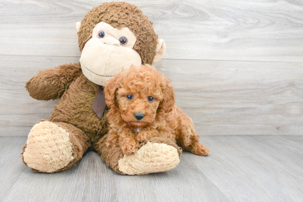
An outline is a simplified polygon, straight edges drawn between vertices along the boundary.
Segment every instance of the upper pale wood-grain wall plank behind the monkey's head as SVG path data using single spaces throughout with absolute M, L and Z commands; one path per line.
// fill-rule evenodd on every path
M 75 23 L 100 3 L 2 0 L 0 55 L 80 56 Z M 165 59 L 303 62 L 300 0 L 130 3 L 154 22 Z

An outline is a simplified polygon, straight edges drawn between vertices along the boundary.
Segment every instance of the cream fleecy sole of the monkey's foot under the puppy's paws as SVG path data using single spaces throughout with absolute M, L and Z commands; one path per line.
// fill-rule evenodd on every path
M 136 153 L 124 155 L 118 161 L 119 170 L 128 175 L 143 175 L 169 171 L 180 162 L 174 146 L 147 142 Z

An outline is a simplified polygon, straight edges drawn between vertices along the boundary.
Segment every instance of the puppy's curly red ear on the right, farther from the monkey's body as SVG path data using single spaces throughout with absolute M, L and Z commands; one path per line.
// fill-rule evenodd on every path
M 163 101 L 160 102 L 160 107 L 165 111 L 165 113 L 171 112 L 175 106 L 175 91 L 173 86 L 168 85 L 171 82 L 169 78 L 162 75 L 162 95 Z

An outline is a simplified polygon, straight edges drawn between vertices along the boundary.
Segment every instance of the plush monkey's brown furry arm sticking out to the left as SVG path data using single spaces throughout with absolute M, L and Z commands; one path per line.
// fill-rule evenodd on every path
M 55 100 L 63 95 L 81 72 L 79 63 L 62 64 L 40 71 L 26 82 L 25 88 L 29 95 L 37 100 Z

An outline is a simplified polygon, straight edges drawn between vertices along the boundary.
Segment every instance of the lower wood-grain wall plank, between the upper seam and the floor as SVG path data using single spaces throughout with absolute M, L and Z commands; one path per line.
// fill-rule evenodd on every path
M 0 134 L 27 135 L 39 119 L 48 119 L 58 100 L 31 98 L 25 81 L 79 57 L 0 56 L 0 61 Z M 302 63 L 164 59 L 155 66 L 172 80 L 176 105 L 200 135 L 302 134 Z

